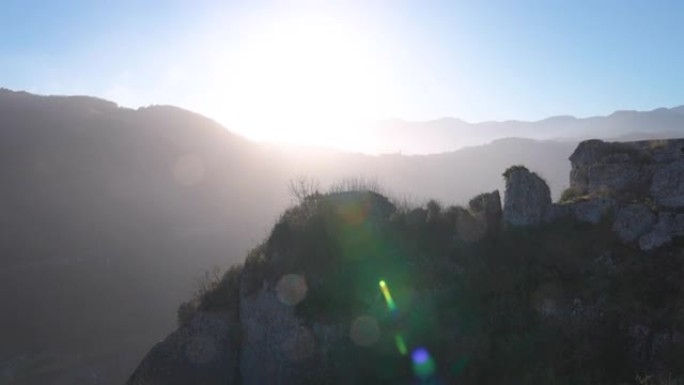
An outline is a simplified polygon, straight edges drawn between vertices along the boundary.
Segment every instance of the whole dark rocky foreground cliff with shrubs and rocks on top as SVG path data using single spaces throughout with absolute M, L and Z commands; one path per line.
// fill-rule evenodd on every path
M 583 142 L 557 203 L 521 166 L 503 205 L 312 194 L 129 384 L 681 380 L 683 147 Z

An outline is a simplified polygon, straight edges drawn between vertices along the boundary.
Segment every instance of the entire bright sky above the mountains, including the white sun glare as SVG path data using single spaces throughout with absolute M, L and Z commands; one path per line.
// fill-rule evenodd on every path
M 682 105 L 681 46 L 682 1 L 0 4 L 0 87 L 173 104 L 266 140 Z

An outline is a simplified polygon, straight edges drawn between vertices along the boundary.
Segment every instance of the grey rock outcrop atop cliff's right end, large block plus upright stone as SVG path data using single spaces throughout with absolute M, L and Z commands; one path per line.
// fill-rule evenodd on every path
M 608 220 L 622 242 L 638 241 L 644 251 L 684 236 L 684 139 L 588 140 L 579 144 L 570 161 L 573 197 L 560 203 L 550 202 L 548 188 L 536 174 L 524 167 L 509 169 L 504 174 L 506 223 Z

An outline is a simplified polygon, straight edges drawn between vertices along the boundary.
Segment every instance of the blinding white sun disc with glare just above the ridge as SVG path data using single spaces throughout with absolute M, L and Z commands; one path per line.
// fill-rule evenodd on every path
M 271 21 L 234 58 L 225 82 L 231 125 L 252 139 L 358 147 L 356 124 L 388 101 L 371 44 L 333 18 Z

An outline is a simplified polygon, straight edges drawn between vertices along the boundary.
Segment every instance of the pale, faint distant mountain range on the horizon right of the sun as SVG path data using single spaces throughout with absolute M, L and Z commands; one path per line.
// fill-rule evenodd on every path
M 595 139 L 645 140 L 680 137 L 684 106 L 652 111 L 616 111 L 609 116 L 554 116 L 524 122 L 468 123 L 455 118 L 427 122 L 391 119 L 369 129 L 369 141 L 380 153 L 432 154 L 482 145 L 503 137 L 579 142 Z

